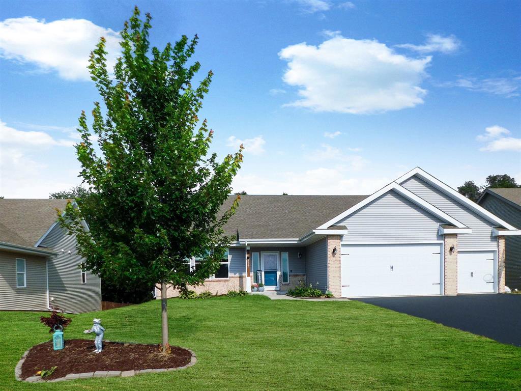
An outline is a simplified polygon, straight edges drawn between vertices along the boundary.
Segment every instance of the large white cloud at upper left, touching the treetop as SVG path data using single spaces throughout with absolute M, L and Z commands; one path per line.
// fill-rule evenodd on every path
M 85 19 L 46 22 L 32 17 L 0 22 L 0 56 L 57 71 L 66 80 L 90 80 L 89 54 L 104 36 L 109 70 L 120 53 L 119 33 Z

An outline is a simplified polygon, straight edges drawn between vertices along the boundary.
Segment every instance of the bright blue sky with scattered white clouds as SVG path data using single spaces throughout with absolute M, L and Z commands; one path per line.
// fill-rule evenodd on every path
M 519 2 L 0 1 L 0 195 L 80 183 L 84 63 L 102 34 L 117 55 L 134 4 L 154 45 L 199 35 L 214 149 L 246 146 L 235 190 L 368 194 L 415 166 L 521 181 Z

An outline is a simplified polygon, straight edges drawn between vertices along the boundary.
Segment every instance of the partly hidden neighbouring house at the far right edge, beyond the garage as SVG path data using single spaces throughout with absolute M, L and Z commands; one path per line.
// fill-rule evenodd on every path
M 521 229 L 521 188 L 487 189 L 481 194 L 478 204 Z M 511 289 L 521 289 L 520 236 L 505 238 L 505 285 Z

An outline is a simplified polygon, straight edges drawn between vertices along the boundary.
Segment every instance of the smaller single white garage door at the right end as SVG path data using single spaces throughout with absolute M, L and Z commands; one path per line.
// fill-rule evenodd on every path
M 457 254 L 458 293 L 493 293 L 495 251 L 460 251 Z

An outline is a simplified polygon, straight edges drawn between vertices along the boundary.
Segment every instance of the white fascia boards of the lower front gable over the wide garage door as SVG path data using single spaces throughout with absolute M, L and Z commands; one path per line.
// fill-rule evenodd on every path
M 420 197 L 416 196 L 416 194 L 414 194 L 413 192 L 405 189 L 403 186 L 400 186 L 398 183 L 391 182 L 386 187 L 381 188 L 376 193 L 371 194 L 366 199 L 364 199 L 364 200 L 358 202 L 356 205 L 350 207 L 350 209 L 346 210 L 345 212 L 339 214 L 336 217 L 333 217 L 330 221 L 328 221 L 325 224 L 322 224 L 317 229 L 326 229 L 329 226 L 334 225 L 340 219 L 349 216 L 350 214 L 356 212 L 357 210 L 361 209 L 363 206 L 365 206 L 368 203 L 376 200 L 378 197 L 382 196 L 383 194 L 385 194 L 385 193 L 387 193 L 388 191 L 391 191 L 391 190 L 394 190 L 394 191 L 398 192 L 399 194 L 401 194 L 406 199 L 414 202 L 416 205 L 422 207 L 423 209 L 425 209 L 426 211 L 430 212 L 431 214 L 441 218 L 445 222 L 450 223 L 450 224 L 456 226 L 457 228 L 467 228 L 464 224 L 458 222 L 454 217 L 451 217 L 448 214 L 446 214 L 445 212 L 439 210 L 436 206 L 429 204 L 423 198 L 420 198 Z

